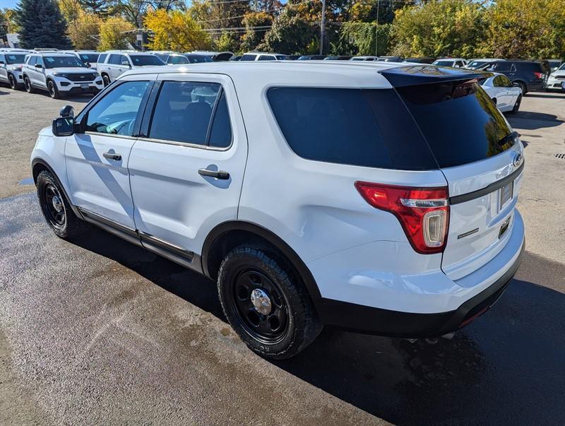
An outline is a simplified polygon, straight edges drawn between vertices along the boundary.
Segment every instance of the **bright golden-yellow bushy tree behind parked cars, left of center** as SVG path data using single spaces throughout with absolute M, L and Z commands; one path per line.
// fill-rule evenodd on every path
M 187 12 L 160 9 L 149 12 L 144 23 L 153 32 L 150 49 L 189 52 L 210 47 L 210 36 Z

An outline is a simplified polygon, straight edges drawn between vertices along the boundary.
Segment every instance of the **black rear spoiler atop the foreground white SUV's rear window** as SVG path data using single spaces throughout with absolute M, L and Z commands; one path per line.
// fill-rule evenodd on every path
M 444 81 L 472 80 L 473 78 L 489 78 L 493 73 L 473 69 L 448 68 L 434 65 L 407 65 L 379 71 L 393 87 L 407 85 L 441 83 Z

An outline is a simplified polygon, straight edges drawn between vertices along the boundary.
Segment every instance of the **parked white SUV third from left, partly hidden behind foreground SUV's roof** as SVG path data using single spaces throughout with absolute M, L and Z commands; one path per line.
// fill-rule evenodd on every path
M 104 85 L 109 85 L 122 73 L 143 66 L 166 65 L 157 55 L 135 50 L 109 50 L 100 54 L 96 69 L 102 76 Z

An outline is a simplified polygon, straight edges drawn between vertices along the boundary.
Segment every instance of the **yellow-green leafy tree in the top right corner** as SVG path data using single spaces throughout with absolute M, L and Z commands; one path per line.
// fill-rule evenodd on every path
M 480 52 L 494 57 L 565 57 L 563 0 L 498 0 L 487 11 Z

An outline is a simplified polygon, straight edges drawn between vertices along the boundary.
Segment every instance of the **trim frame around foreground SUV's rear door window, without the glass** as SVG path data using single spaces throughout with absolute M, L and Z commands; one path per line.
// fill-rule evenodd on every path
M 155 109 L 157 107 L 157 100 L 159 99 L 159 95 L 161 93 L 162 90 L 162 86 L 165 85 L 165 83 L 167 82 L 173 82 L 173 83 L 217 83 L 220 85 L 220 90 L 218 90 L 218 95 L 216 96 L 216 99 L 220 99 L 222 93 L 226 93 L 225 89 L 224 89 L 224 85 L 222 83 L 220 83 L 219 81 L 185 81 L 185 80 L 160 80 L 160 81 L 156 81 L 155 85 L 153 85 L 153 90 L 151 91 L 151 95 L 148 99 L 147 105 L 145 105 L 145 113 L 143 114 L 143 119 L 142 119 L 142 123 L 141 123 L 141 128 L 139 131 L 140 136 L 138 137 L 138 139 L 140 141 L 145 141 L 145 142 L 155 142 L 155 143 L 164 143 L 165 145 L 175 145 L 175 146 L 186 146 L 187 148 L 199 148 L 199 149 L 203 149 L 203 150 L 210 150 L 210 151 L 227 151 L 230 150 L 232 148 L 232 146 L 234 146 L 234 126 L 232 124 L 232 114 L 230 112 L 230 105 L 227 102 L 227 96 L 226 96 L 226 106 L 227 106 L 227 115 L 228 118 L 230 119 L 230 130 L 232 133 L 232 139 L 230 141 L 230 145 L 226 146 L 225 148 L 219 148 L 216 146 L 210 146 L 210 134 L 212 131 L 212 125 L 214 123 L 214 119 L 215 119 L 215 114 L 216 114 L 216 110 L 218 109 L 218 102 L 215 102 L 214 104 L 214 108 L 212 110 L 212 114 L 210 114 L 210 122 L 208 122 L 208 130 L 206 131 L 206 143 L 201 144 L 201 143 L 191 143 L 191 142 L 180 142 L 180 141 L 169 141 L 167 139 L 159 139 L 159 138 L 150 138 L 148 136 L 150 130 L 151 130 L 151 125 L 153 124 L 153 116 L 155 115 Z M 143 133 L 143 131 L 147 132 L 147 133 Z

